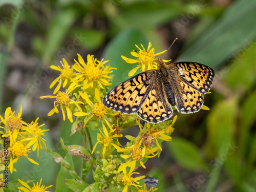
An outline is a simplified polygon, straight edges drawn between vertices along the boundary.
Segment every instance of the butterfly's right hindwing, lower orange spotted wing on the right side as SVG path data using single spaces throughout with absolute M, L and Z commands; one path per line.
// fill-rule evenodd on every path
M 176 102 L 178 112 L 185 114 L 198 112 L 203 106 L 204 95 L 184 82 L 180 84 L 182 91 L 179 95 L 175 95 L 176 98 L 180 98 Z

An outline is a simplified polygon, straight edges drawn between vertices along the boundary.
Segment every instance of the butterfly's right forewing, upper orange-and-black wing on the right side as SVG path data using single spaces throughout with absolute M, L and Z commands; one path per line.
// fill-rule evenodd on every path
M 213 69 L 197 62 L 176 62 L 174 64 L 182 81 L 188 84 L 189 87 L 202 94 L 206 94 L 210 90 L 215 76 Z

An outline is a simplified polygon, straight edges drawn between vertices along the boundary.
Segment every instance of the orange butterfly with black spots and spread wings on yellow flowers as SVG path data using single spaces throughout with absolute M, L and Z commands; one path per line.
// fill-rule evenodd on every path
M 118 84 L 102 99 L 107 108 L 159 123 L 179 113 L 198 112 L 203 97 L 214 80 L 215 72 L 197 62 L 175 62 L 166 65 L 157 59 L 157 69 L 142 72 Z

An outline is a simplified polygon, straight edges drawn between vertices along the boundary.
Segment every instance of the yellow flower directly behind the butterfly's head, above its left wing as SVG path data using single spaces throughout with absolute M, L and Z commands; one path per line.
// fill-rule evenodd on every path
M 133 51 L 131 52 L 131 54 L 134 57 L 138 57 L 137 59 L 130 59 L 123 55 L 121 56 L 123 60 L 125 60 L 125 62 L 127 63 L 139 62 L 139 65 L 136 68 L 132 69 L 129 72 L 128 76 L 129 77 L 133 76 L 139 68 L 141 68 L 141 72 L 151 70 L 151 69 L 157 69 L 155 56 L 164 53 L 166 50 L 155 54 L 155 49 L 154 48 L 151 49 L 152 47 L 151 42 L 148 44 L 147 50 L 145 50 L 145 48 L 142 45 L 141 45 L 142 49 L 140 49 L 137 45 L 135 46 L 139 49 L 139 52 Z M 170 60 L 164 60 L 164 62 L 167 62 L 167 61 L 170 61 Z

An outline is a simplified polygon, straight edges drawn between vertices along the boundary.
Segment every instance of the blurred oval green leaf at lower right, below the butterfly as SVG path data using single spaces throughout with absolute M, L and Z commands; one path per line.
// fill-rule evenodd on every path
M 185 139 L 173 138 L 168 142 L 170 151 L 176 162 L 189 170 L 203 170 L 207 168 L 197 146 Z

